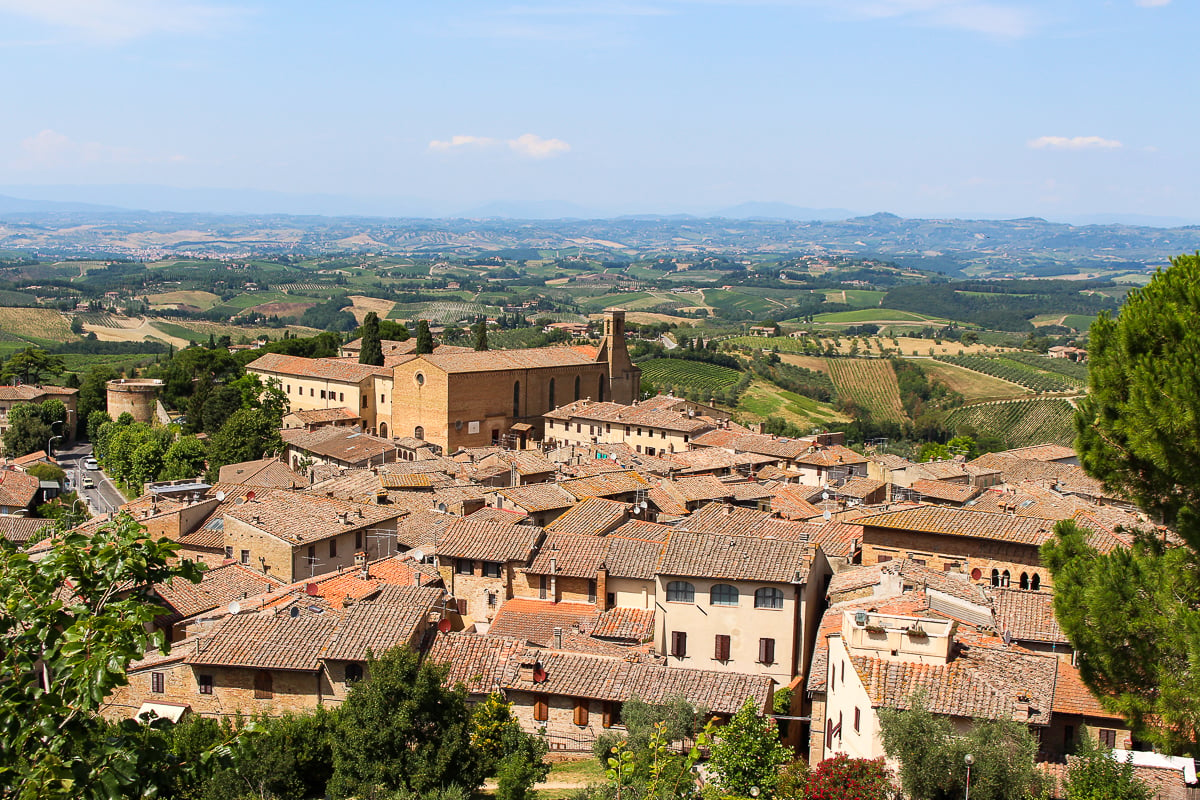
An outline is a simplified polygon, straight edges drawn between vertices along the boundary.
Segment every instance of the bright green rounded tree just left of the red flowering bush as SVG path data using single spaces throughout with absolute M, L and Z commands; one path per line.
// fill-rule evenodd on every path
M 779 768 L 792 760 L 780 741 L 775 721 L 760 714 L 752 698 L 746 698 L 730 722 L 720 728 L 713 742 L 709 766 L 726 792 L 748 798 L 751 789 L 770 796 L 779 780 Z

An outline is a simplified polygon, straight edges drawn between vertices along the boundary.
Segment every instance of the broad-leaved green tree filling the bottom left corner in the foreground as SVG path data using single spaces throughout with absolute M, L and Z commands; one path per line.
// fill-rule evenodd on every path
M 150 768 L 162 744 L 154 728 L 108 724 L 98 709 L 131 662 L 150 648 L 166 651 L 162 632 L 150 632 L 162 609 L 145 596 L 155 583 L 200 578 L 194 563 L 174 561 L 176 549 L 128 515 L 90 534 L 60 534 L 38 561 L 0 542 L 4 796 L 154 796 L 170 780 Z

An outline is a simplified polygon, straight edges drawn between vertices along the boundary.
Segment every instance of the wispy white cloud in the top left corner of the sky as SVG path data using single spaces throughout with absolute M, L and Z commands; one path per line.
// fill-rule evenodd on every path
M 230 8 L 187 0 L 0 0 L 0 14 L 25 17 L 106 43 L 154 34 L 203 34 L 224 26 Z

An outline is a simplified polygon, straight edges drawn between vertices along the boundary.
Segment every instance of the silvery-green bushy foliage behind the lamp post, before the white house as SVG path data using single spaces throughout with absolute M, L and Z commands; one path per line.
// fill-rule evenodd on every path
M 1036 764 L 1037 740 L 1014 720 L 977 720 L 962 738 L 949 717 L 932 714 L 924 698 L 914 696 L 907 710 L 881 709 L 880 730 L 888 758 L 900 762 L 900 784 L 911 800 L 961 798 L 967 753 L 974 757 L 976 800 L 1025 800 L 1046 787 Z

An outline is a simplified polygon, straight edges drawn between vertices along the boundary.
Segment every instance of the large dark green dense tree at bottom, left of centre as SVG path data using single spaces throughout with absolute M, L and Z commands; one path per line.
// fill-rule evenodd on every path
M 338 711 L 329 793 L 478 788 L 484 764 L 470 746 L 467 691 L 443 685 L 446 667 L 397 646 L 378 658 L 368 652 L 367 673 Z

